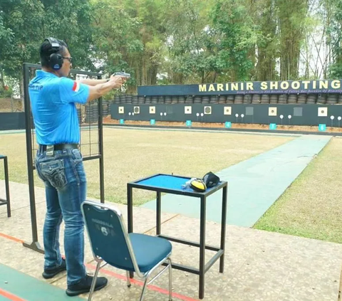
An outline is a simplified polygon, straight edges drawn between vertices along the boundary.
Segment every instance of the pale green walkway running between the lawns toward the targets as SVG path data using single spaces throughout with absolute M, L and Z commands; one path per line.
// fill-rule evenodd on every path
M 227 223 L 252 227 L 331 137 L 305 135 L 216 174 L 228 181 Z M 207 220 L 220 222 L 222 191 L 207 199 Z M 155 200 L 142 205 L 155 209 Z M 199 218 L 199 199 L 166 194 L 162 211 Z

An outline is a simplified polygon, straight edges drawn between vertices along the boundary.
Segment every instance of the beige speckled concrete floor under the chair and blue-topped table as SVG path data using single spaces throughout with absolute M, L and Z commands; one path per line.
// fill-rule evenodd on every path
M 22 241 L 31 241 L 31 222 L 28 186 L 10 183 L 12 217 L 7 218 L 5 206 L 0 207 L 0 264 L 36 278 L 45 285 L 66 288 L 66 273 L 51 280 L 41 277 L 43 255 L 24 248 Z M 0 197 L 4 197 L 4 181 L 0 181 Z M 118 205 L 127 221 L 126 206 Z M 36 188 L 38 239 L 43 244 L 42 228 L 46 212 L 44 191 Z M 134 208 L 134 225 L 138 233 L 155 234 L 155 211 Z M 206 243 L 219 244 L 219 223 L 208 221 Z M 162 233 L 192 241 L 199 240 L 199 220 L 176 213 L 162 213 Z M 195 247 L 172 243 L 175 263 L 197 267 L 199 252 Z M 215 263 L 206 274 L 204 300 L 260 301 L 260 300 L 338 300 L 341 280 L 342 245 L 308 238 L 286 236 L 279 233 L 227 225 L 226 259 L 223 274 Z M 63 250 L 63 228 L 61 232 Z M 207 251 L 206 261 L 212 257 Z M 86 238 L 86 264 L 93 273 L 93 262 L 88 238 Z M 1 273 L 1 268 L 0 268 Z M 139 300 L 142 283 L 135 281 L 128 289 L 125 273 L 106 266 L 100 273 L 108 277 L 105 289 L 95 292 L 93 300 Z M 198 276 L 173 270 L 174 300 L 198 300 Z M 6 284 L 0 281 L 0 291 Z M 20 297 L 35 287 L 25 287 Z M 26 295 L 25 295 L 26 291 Z M 14 293 L 14 292 L 13 292 Z M 1 295 L 1 294 L 0 294 Z M 80 297 L 87 298 L 82 295 Z M 49 301 L 54 299 L 51 295 Z M 71 298 L 71 300 L 75 300 Z M 145 300 L 167 299 L 167 275 L 162 275 L 145 295 Z M 36 301 L 36 300 L 34 300 Z

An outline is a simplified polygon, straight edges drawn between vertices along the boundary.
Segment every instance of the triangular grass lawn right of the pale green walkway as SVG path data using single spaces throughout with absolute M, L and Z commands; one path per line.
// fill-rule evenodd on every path
M 254 228 L 342 243 L 341 149 L 331 139 Z

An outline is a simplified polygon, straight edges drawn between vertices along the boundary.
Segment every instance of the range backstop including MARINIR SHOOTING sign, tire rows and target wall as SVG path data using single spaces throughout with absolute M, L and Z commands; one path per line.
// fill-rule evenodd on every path
M 341 80 L 140 86 L 138 95 L 116 96 L 110 115 L 115 120 L 339 127 L 341 88 Z

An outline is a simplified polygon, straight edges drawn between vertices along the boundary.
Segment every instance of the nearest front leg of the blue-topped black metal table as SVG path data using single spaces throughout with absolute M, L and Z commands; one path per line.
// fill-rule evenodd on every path
M 201 196 L 201 216 L 199 227 L 199 299 L 204 298 L 204 266 L 205 266 L 205 216 L 206 197 Z

